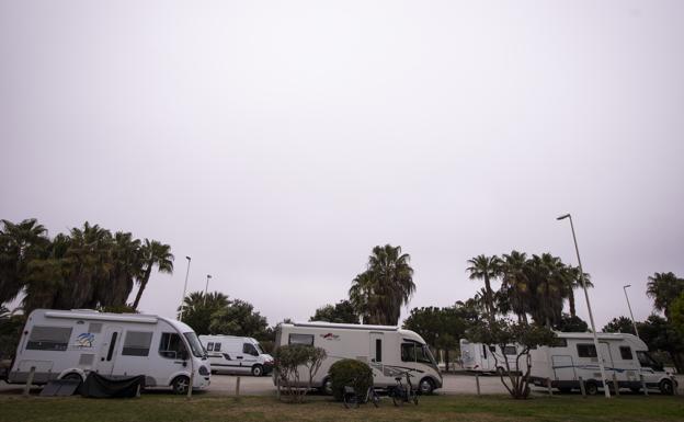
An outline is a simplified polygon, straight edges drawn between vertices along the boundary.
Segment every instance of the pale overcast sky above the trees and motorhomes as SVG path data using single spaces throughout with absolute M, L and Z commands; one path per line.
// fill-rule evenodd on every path
M 410 307 L 466 260 L 577 258 L 596 322 L 684 276 L 682 1 L 0 0 L 0 218 L 172 246 L 269 322 L 346 297 L 376 244 Z M 579 313 L 588 318 L 584 301 Z M 404 316 L 408 313 L 404 310 Z

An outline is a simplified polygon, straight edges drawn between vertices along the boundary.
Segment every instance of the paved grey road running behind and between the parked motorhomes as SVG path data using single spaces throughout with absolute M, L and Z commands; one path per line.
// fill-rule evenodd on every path
M 498 376 L 480 376 L 480 391 L 483 395 L 492 394 L 508 394 L 505 388 L 501 385 L 501 380 Z M 213 375 L 212 385 L 203 392 L 209 396 L 232 396 L 236 390 L 237 377 L 232 375 Z M 680 376 L 680 394 L 684 394 L 684 377 Z M 159 392 L 168 390 L 155 389 Z M 21 394 L 22 386 L 7 385 L 0 381 L 0 394 Z M 436 390 L 440 395 L 474 395 L 477 392 L 476 378 L 472 375 L 459 374 L 459 375 L 445 375 L 444 387 Z M 533 392 L 546 395 L 546 389 L 539 389 L 533 387 Z M 556 392 L 556 391 L 555 391 Z M 273 379 L 267 377 L 240 377 L 240 394 L 246 396 L 270 396 L 275 395 L 275 387 L 273 386 Z M 579 394 L 579 392 L 578 392 Z M 628 394 L 628 392 L 625 392 Z

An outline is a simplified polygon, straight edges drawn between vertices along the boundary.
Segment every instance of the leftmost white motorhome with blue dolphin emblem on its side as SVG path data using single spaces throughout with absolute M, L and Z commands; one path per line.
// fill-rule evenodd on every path
M 83 380 L 91 370 L 118 377 L 145 375 L 146 387 L 187 391 L 209 385 L 210 366 L 195 332 L 168 318 L 94 310 L 36 309 L 29 316 L 8 383 Z

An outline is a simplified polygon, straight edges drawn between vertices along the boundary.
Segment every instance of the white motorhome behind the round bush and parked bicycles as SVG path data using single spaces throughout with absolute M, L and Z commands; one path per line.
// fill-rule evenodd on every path
M 428 344 L 410 330 L 332 322 L 282 323 L 275 334 L 275 346 L 286 344 L 307 344 L 326 350 L 328 357 L 312 385 L 327 394 L 331 392 L 330 366 L 343 358 L 367 363 L 373 369 L 376 387 L 392 387 L 397 384 L 395 377 L 408 372 L 412 384 L 423 394 L 442 388 L 442 375 Z M 276 383 L 275 373 L 273 383 Z

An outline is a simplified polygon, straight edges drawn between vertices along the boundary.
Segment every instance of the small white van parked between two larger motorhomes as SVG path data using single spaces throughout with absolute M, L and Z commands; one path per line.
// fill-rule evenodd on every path
M 263 353 L 259 342 L 249 337 L 200 335 L 214 373 L 269 375 L 273 356 Z

